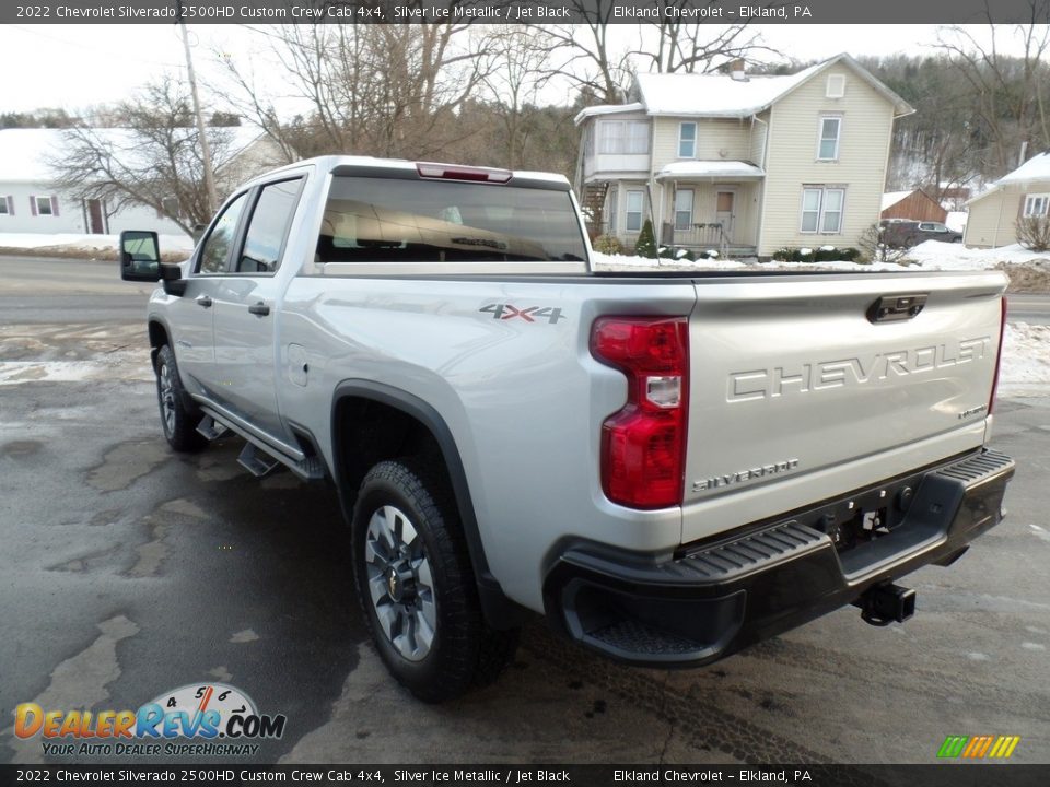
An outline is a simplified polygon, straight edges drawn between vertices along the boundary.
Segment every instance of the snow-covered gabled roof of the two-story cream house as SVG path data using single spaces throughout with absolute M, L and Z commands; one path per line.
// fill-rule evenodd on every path
M 877 93 L 894 105 L 897 117 L 914 111 L 911 105 L 875 79 L 867 69 L 842 52 L 816 66 L 789 75 L 748 75 L 746 80 L 730 74 L 641 73 L 635 77 L 641 104 L 648 115 L 676 117 L 746 118 L 765 111 L 814 77 L 837 63 L 848 66 Z M 585 117 L 603 115 L 617 105 L 587 107 L 576 115 L 576 125 Z

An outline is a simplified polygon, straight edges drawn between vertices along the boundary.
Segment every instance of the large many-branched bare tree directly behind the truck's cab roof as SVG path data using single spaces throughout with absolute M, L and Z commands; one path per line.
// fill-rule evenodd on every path
M 279 119 L 250 64 L 224 57 L 222 94 L 289 158 L 322 153 L 434 157 L 465 133 L 455 113 L 492 68 L 467 24 L 299 24 L 259 31 L 310 110 Z M 469 131 L 467 131 L 469 132 Z

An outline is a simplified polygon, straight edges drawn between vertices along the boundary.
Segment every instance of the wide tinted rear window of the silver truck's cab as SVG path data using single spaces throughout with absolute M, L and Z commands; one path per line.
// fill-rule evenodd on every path
M 568 191 L 447 180 L 332 178 L 319 262 L 583 260 Z

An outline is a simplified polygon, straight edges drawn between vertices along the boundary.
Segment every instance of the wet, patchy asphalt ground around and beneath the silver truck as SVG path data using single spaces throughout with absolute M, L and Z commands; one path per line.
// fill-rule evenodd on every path
M 905 625 L 848 608 L 665 672 L 537 622 L 500 682 L 430 707 L 368 642 L 332 490 L 248 475 L 235 438 L 170 451 L 144 295 L 112 263 L 26 265 L 0 260 L 0 718 L 222 681 L 288 716 L 253 762 L 933 763 L 945 736 L 979 733 L 1018 735 L 1015 761 L 1050 762 L 1050 398 L 1000 401 L 1010 516 L 954 566 L 909 577 Z M 63 757 L 8 727 L 0 761 Z

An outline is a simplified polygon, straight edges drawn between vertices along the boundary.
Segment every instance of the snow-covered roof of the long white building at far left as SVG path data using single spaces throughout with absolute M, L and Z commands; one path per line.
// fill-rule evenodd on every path
M 133 158 L 140 142 L 130 129 L 85 129 L 101 142 L 127 156 L 130 166 L 141 162 Z M 217 134 L 229 134 L 226 158 L 235 157 L 259 139 L 257 129 L 246 126 L 209 128 Z M 0 181 L 48 183 L 55 179 L 51 162 L 61 161 L 62 151 L 69 145 L 68 129 L 2 129 L 0 130 Z M 209 133 L 208 138 L 211 139 Z M 220 166 L 221 163 L 217 163 Z

